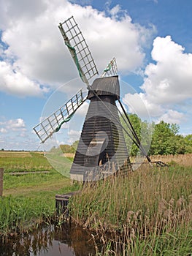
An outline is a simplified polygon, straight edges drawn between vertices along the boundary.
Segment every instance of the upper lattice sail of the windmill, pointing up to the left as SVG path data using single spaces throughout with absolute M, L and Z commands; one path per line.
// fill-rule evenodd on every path
M 64 21 L 64 23 L 59 23 L 58 28 L 60 29 L 61 34 L 64 37 L 64 42 L 69 48 L 72 59 L 77 66 L 80 78 L 84 83 L 89 85 L 88 80 L 94 75 L 98 75 L 99 72 L 93 61 L 88 45 L 85 42 L 85 38 L 73 16 Z

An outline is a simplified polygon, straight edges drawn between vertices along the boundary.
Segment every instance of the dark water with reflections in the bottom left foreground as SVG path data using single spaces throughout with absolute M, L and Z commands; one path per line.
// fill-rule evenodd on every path
M 42 226 L 16 238 L 0 241 L 0 256 L 95 255 L 91 234 L 73 225 Z

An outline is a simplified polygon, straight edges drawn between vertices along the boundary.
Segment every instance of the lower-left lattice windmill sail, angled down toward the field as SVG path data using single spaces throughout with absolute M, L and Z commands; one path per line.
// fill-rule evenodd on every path
M 61 129 L 62 124 L 69 121 L 76 110 L 80 108 L 83 102 L 87 99 L 87 96 L 83 96 L 82 89 L 77 91 L 74 96 L 66 102 L 65 105 L 61 106 L 52 115 L 48 116 L 41 123 L 34 127 L 34 131 L 42 143 L 50 138 L 54 132 L 58 132 Z

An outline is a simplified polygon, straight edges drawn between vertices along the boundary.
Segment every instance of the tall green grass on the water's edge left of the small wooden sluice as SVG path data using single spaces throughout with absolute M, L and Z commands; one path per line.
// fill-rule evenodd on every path
M 54 201 L 45 203 L 45 197 L 8 197 L 0 198 L 0 234 L 17 234 L 45 219 L 51 219 L 54 213 Z

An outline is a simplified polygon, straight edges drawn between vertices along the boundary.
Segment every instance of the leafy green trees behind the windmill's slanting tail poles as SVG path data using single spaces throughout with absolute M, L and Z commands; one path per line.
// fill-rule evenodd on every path
M 148 153 L 148 151 L 150 155 L 192 153 L 192 135 L 188 135 L 185 138 L 183 135 L 179 135 L 178 132 L 180 127 L 177 124 L 169 124 L 164 121 L 160 121 L 158 124 L 149 124 L 147 121 L 142 121 L 135 114 L 128 114 L 128 118 L 130 119 L 143 148 L 145 148 L 146 153 Z M 129 134 L 131 134 L 123 118 L 120 120 L 123 127 Z M 136 156 L 139 148 L 133 143 L 133 140 L 126 134 L 126 132 L 123 131 L 123 133 L 129 154 L 131 156 Z

